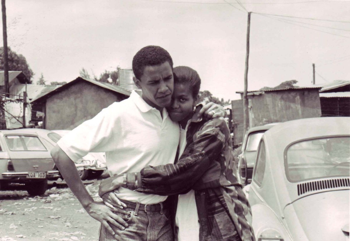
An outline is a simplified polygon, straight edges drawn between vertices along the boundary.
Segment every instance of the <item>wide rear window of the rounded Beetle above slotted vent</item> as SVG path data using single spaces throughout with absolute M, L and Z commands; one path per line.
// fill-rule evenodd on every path
M 287 149 L 286 173 L 290 181 L 349 176 L 350 137 L 301 141 Z

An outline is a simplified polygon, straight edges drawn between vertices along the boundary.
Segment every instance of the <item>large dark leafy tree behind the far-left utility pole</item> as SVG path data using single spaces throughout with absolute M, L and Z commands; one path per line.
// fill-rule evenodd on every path
M 22 71 L 26 75 L 29 83 L 32 83 L 31 78 L 34 76 L 33 71 L 29 67 L 26 58 L 22 54 L 17 54 L 9 47 L 8 50 L 8 70 L 9 71 Z M 0 70 L 3 71 L 3 47 L 0 47 Z

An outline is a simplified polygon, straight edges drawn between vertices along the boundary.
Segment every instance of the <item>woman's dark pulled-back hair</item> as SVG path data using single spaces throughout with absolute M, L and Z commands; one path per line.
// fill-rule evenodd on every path
M 174 84 L 188 84 L 193 98 L 197 98 L 201 88 L 201 78 L 197 71 L 187 66 L 177 66 L 173 69 Z

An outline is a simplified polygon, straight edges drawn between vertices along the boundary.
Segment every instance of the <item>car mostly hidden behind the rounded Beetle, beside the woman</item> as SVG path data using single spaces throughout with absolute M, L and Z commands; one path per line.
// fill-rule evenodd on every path
M 242 153 L 239 156 L 237 173 L 238 180 L 243 186 L 252 182 L 255 156 L 257 155 L 257 149 L 262 135 L 265 131 L 277 124 L 278 123 L 271 123 L 255 126 L 246 132 L 242 144 Z

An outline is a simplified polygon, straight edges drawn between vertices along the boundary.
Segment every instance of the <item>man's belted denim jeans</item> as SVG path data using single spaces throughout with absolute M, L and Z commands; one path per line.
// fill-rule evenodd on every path
M 126 222 L 128 227 L 124 230 L 119 229 L 116 226 L 112 227 L 116 233 L 112 235 L 107 229 L 101 225 L 99 233 L 99 241 L 110 240 L 140 240 L 140 241 L 173 241 L 173 229 L 170 225 L 170 210 L 163 209 L 161 212 L 145 212 L 144 210 L 125 208 L 131 215 L 127 217 Z M 124 216 L 124 214 L 116 213 L 117 215 Z

